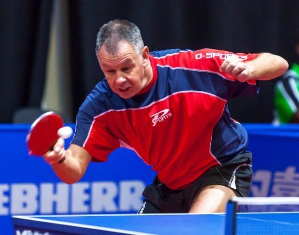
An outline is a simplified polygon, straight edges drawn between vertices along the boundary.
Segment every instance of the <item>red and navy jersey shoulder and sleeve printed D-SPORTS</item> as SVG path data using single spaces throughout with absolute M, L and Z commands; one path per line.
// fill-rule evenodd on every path
M 154 54 L 159 79 L 167 78 L 172 92 L 197 90 L 230 99 L 256 94 L 259 90 L 256 81 L 240 82 L 220 72 L 221 64 L 234 55 L 232 52 L 206 48 L 197 51 L 173 49 Z M 257 55 L 238 53 L 238 56 L 250 60 Z

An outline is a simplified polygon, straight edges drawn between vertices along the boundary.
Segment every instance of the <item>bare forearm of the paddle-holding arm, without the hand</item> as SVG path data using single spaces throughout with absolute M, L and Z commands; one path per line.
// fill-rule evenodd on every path
M 65 183 L 77 182 L 84 175 L 91 156 L 79 146 L 71 145 L 62 163 L 52 164 L 55 174 Z

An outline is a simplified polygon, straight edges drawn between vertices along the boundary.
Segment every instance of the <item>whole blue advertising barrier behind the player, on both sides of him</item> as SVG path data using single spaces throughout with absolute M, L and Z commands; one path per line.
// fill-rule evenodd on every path
M 251 196 L 299 196 L 299 125 L 244 126 L 249 134 L 248 150 L 253 153 Z M 0 125 L 0 234 L 13 233 L 11 215 L 138 211 L 142 192 L 155 172 L 133 151 L 121 148 L 108 162 L 92 162 L 79 182 L 68 185 L 41 157 L 28 156 L 25 138 L 29 127 Z

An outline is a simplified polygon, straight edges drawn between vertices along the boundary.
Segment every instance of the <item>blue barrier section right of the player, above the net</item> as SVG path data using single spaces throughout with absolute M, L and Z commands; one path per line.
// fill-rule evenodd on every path
M 253 197 L 299 197 L 299 125 L 244 125 L 253 153 Z M 296 205 L 274 205 L 255 211 L 299 211 Z

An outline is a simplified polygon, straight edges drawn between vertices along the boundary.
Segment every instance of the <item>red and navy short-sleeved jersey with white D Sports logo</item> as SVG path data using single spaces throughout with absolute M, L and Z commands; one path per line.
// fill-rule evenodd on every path
M 117 148 L 134 150 L 173 190 L 184 189 L 209 168 L 244 153 L 248 135 L 230 116 L 227 102 L 255 94 L 255 80 L 221 73 L 233 53 L 214 49 L 150 53 L 153 78 L 123 99 L 104 78 L 79 109 L 72 144 L 96 161 Z M 244 61 L 258 54 L 237 53 Z

